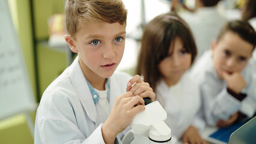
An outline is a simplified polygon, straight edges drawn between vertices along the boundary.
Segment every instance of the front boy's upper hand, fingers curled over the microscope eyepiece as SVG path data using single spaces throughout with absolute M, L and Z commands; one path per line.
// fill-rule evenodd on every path
M 134 96 L 139 95 L 142 98 L 149 97 L 151 101 L 154 101 L 156 98 L 153 89 L 150 88 L 150 85 L 147 82 L 144 82 L 139 75 L 135 75 L 129 80 L 126 91 L 132 92 Z

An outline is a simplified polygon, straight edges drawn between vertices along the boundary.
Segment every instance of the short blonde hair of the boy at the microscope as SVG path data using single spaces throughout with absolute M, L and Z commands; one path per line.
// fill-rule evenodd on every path
M 126 25 L 127 10 L 121 0 L 67 0 L 65 16 L 67 32 L 76 39 L 81 23 L 102 21 Z

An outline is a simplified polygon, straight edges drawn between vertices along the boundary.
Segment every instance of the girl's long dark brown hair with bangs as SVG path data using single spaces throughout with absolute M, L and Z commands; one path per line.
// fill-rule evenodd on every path
M 189 27 L 177 14 L 161 14 L 144 28 L 136 73 L 144 76 L 144 81 L 153 89 L 162 77 L 158 65 L 169 55 L 171 43 L 177 37 L 183 41 L 186 52 L 192 54 L 192 64 L 197 56 L 197 47 Z

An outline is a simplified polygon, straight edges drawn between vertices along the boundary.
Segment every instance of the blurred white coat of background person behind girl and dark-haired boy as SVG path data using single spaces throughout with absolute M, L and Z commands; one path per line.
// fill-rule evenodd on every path
M 189 25 L 197 44 L 197 59 L 210 49 L 212 40 L 216 40 L 227 19 L 216 7 L 198 8 L 195 13 L 183 12 L 180 16 Z

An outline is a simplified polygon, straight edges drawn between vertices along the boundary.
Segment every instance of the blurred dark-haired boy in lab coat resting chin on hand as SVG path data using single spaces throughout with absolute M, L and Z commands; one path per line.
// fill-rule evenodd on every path
M 256 80 L 249 59 L 255 40 L 255 31 L 248 22 L 228 22 L 213 42 L 212 52 L 206 52 L 193 68 L 207 124 L 227 127 L 254 115 Z

